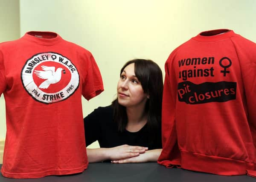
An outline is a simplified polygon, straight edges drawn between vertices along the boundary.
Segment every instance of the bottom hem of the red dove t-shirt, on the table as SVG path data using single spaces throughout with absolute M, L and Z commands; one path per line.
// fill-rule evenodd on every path
M 31 179 L 31 178 L 42 178 L 50 175 L 67 175 L 67 174 L 81 173 L 85 169 L 87 169 L 87 166 L 88 165 L 84 165 L 81 168 L 75 168 L 75 169 L 47 170 L 47 171 L 32 172 L 32 173 L 9 173 L 9 172 L 6 172 L 2 167 L 1 173 L 6 178 Z

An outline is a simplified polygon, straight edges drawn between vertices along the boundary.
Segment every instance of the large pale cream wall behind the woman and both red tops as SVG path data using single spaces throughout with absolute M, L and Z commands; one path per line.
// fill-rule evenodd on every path
M 53 31 L 90 50 L 105 91 L 83 100 L 84 116 L 111 103 L 122 65 L 170 52 L 199 32 L 228 28 L 256 42 L 255 0 L 20 0 L 20 35 Z

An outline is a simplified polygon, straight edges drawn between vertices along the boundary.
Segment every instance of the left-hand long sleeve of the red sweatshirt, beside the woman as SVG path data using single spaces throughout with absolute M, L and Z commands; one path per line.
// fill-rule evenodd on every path
M 180 151 L 177 143 L 175 123 L 175 105 L 177 98 L 177 80 L 175 71 L 171 66 L 171 54 L 165 64 L 165 81 L 163 87 L 162 106 L 162 144 L 163 150 L 158 158 L 158 163 L 167 168 L 180 167 Z

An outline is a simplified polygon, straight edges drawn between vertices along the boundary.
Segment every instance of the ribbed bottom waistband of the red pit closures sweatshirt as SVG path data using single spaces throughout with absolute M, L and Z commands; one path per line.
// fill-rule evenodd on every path
M 219 175 L 245 175 L 247 170 L 255 170 L 256 165 L 240 160 L 218 156 L 207 156 L 181 150 L 181 168 Z

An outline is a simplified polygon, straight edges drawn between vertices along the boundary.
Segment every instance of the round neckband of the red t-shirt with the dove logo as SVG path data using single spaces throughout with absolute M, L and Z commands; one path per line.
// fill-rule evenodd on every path
M 59 36 L 55 32 L 26 32 L 25 35 L 23 35 L 22 39 L 26 39 L 28 41 L 32 41 L 41 45 L 54 45 L 61 40 L 61 36 Z

